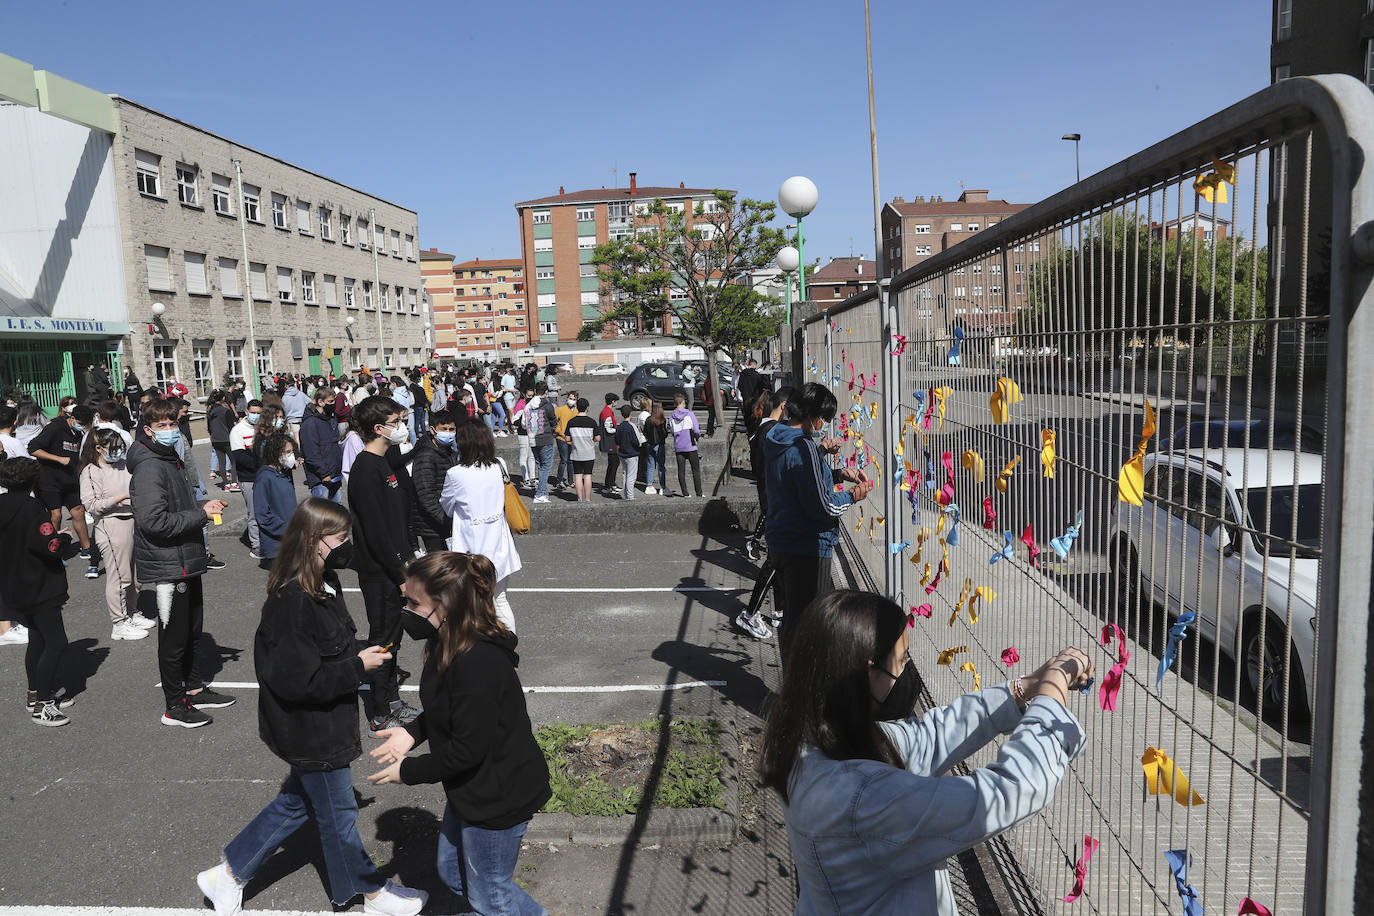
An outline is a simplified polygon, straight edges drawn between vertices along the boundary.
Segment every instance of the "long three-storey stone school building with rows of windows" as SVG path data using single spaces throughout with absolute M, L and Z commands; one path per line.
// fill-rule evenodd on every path
M 225 372 L 250 378 L 250 361 L 260 375 L 425 361 L 415 210 L 129 99 L 114 106 L 126 364 L 144 385 L 177 378 L 203 397 Z M 154 302 L 166 310 L 150 334 Z

